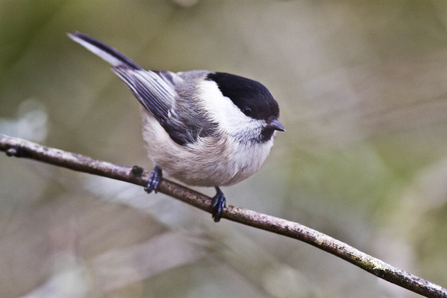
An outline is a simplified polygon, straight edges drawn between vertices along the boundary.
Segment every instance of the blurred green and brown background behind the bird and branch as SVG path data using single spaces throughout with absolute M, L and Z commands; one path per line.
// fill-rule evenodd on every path
M 258 80 L 287 132 L 223 188 L 229 204 L 447 287 L 446 28 L 440 0 L 0 0 L 0 133 L 152 169 L 137 100 L 76 30 L 148 69 Z M 0 296 L 417 297 L 307 244 L 5 154 Z

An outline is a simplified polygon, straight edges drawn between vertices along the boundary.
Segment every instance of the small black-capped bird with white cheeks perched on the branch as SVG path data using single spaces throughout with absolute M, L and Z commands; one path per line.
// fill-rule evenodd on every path
M 219 186 L 257 172 L 275 132 L 285 131 L 267 88 L 223 72 L 144 70 L 86 34 L 68 36 L 109 62 L 140 101 L 143 138 L 156 165 L 145 190 L 157 190 L 162 170 L 191 186 L 213 186 L 211 212 L 218 222 L 226 204 Z

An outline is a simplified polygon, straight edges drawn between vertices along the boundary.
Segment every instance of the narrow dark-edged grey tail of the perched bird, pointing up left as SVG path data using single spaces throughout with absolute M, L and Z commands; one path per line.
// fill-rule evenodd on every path
M 106 45 L 105 43 L 88 36 L 81 32 L 75 32 L 73 34 L 68 33 L 68 37 L 85 47 L 87 50 L 98 55 L 105 61 L 109 62 L 112 66 L 126 66 L 134 70 L 142 70 L 143 68 L 115 50 L 114 48 Z

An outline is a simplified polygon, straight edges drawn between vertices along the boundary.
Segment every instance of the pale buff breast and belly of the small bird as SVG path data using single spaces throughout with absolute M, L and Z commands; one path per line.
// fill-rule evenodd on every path
M 240 142 L 225 134 L 214 134 L 182 146 L 148 113 L 143 113 L 143 123 L 149 158 L 165 174 L 191 186 L 236 184 L 261 168 L 273 145 L 273 140 Z

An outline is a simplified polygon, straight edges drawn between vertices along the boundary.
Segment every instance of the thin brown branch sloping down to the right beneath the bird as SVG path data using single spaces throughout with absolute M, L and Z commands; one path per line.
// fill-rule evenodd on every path
M 5 151 L 8 156 L 35 159 L 71 170 L 117 179 L 140 186 L 146 186 L 150 175 L 148 171 L 138 166 L 129 168 L 116 165 L 1 134 L 0 151 Z M 162 179 L 158 192 L 210 212 L 211 199 L 209 197 L 177 183 Z M 447 289 L 393 267 L 346 243 L 301 224 L 231 205 L 224 209 L 222 218 L 304 241 L 342 258 L 375 276 L 423 296 L 447 297 Z

